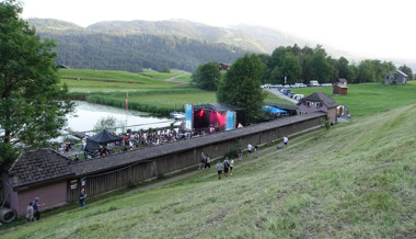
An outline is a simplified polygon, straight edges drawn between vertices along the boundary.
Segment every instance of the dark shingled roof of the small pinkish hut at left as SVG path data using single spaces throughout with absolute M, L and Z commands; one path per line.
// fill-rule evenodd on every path
M 21 187 L 74 175 L 69 159 L 51 149 L 22 152 L 5 170 L 12 187 Z

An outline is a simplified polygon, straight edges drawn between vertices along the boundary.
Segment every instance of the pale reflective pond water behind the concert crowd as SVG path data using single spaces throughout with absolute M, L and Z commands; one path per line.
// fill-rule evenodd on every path
M 94 129 L 94 125 L 101 120 L 108 116 L 115 117 L 118 125 L 126 124 L 132 130 L 148 129 L 155 127 L 167 127 L 174 121 L 166 117 L 154 117 L 147 113 L 137 111 L 126 111 L 119 107 L 106 106 L 101 104 L 88 103 L 84 101 L 74 101 L 74 115 L 68 116 L 67 127 L 76 132 L 89 132 Z M 118 129 L 122 132 L 122 128 Z

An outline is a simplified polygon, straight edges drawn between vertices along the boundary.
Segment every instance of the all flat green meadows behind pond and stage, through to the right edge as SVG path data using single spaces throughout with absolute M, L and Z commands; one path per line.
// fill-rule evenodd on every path
M 68 84 L 74 99 L 124 107 L 126 92 L 129 94 L 130 110 L 166 115 L 172 111 L 183 111 L 185 104 L 217 102 L 216 93 L 192 87 L 190 73 L 172 70 L 163 73 L 145 70 L 141 73 L 105 70 L 61 69 L 61 82 Z M 166 81 L 172 77 L 174 82 Z M 69 79 L 71 78 L 71 79 Z M 80 80 L 73 80 L 80 78 Z M 106 81 L 107 80 L 107 81 Z M 332 87 L 291 89 L 305 96 L 323 91 L 332 95 Z M 405 86 L 382 83 L 348 84 L 348 94 L 332 95 L 340 105 L 346 105 L 354 117 L 371 115 L 395 107 L 416 103 L 416 81 Z M 271 93 L 266 102 L 292 104 Z

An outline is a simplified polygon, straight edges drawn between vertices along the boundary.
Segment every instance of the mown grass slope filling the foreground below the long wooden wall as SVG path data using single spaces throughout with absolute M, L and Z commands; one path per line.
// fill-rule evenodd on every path
M 218 180 L 88 201 L 4 238 L 414 238 L 416 104 L 291 138 Z M 299 144 L 296 144 L 296 143 Z M 302 143 L 302 144 L 300 144 Z M 19 224 L 19 223 L 16 223 Z

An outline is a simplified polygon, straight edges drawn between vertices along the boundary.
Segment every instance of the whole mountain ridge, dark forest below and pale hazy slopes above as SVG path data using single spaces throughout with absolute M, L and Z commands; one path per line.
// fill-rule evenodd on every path
M 79 69 L 137 72 L 142 68 L 169 67 L 194 71 L 201 62 L 231 64 L 245 53 L 273 49 L 273 43 L 264 47 L 242 30 L 184 20 L 99 22 L 88 27 L 51 19 L 28 22 L 42 37 L 56 39 L 57 64 Z M 277 42 L 276 46 L 290 45 Z

